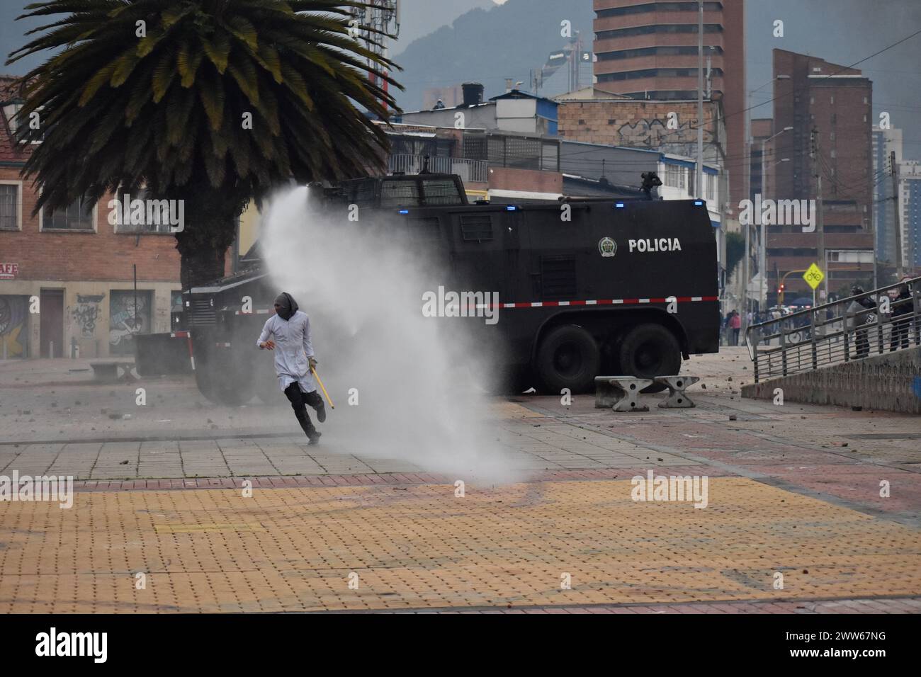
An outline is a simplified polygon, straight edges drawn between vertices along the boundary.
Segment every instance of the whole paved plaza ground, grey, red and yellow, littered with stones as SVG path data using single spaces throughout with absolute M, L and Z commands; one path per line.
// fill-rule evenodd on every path
M 461 491 L 355 453 L 340 408 L 309 447 L 284 401 L 85 368 L 0 362 L 0 475 L 76 479 L 72 509 L 0 503 L 0 611 L 921 611 L 921 423 L 741 400 L 741 348 L 685 363 L 693 409 L 493 398 L 516 478 Z M 650 471 L 705 508 L 636 501 Z

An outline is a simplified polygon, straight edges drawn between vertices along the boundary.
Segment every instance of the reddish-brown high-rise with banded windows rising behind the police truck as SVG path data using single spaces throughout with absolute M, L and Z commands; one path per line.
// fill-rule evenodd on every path
M 697 98 L 697 2 L 594 2 L 597 88 L 634 99 Z M 704 3 L 705 96 L 722 99 L 732 204 L 748 195 L 744 18 L 742 0 Z

